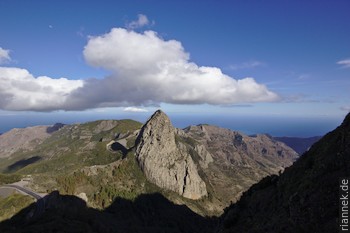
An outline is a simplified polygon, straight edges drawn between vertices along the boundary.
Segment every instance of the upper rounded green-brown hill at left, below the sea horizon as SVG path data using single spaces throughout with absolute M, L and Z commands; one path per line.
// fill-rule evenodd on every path
M 106 123 L 107 122 L 107 123 Z M 108 127 L 103 128 L 108 124 Z M 0 172 L 38 174 L 72 172 L 84 166 L 108 164 L 120 158 L 120 154 L 106 150 L 106 145 L 118 134 L 133 132 L 142 126 L 133 120 L 94 121 L 86 124 L 67 125 L 52 134 L 32 151 L 18 151 L 9 159 L 0 161 Z M 37 158 L 32 163 L 30 158 Z M 18 161 L 23 166 L 16 166 Z

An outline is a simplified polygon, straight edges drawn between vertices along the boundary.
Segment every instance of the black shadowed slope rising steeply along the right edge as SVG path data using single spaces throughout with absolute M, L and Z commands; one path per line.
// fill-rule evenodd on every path
M 339 180 L 349 174 L 350 114 L 282 175 L 245 192 L 226 210 L 219 232 L 337 232 Z

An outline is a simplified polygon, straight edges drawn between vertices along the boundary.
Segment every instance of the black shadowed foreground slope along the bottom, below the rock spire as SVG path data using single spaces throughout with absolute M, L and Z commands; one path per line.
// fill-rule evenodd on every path
M 160 194 L 135 201 L 118 198 L 104 211 L 86 206 L 75 196 L 53 192 L 45 198 L 45 212 L 36 216 L 35 204 L 0 223 L 0 232 L 212 232 L 207 219 Z M 32 217 L 30 217 L 32 216 Z

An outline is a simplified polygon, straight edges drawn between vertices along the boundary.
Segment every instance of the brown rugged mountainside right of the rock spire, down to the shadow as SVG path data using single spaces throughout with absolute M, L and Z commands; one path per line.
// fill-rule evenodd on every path
M 266 135 L 250 137 L 211 125 L 190 126 L 184 132 L 196 140 L 197 149 L 210 155 L 211 160 L 207 161 L 211 162 L 202 170 L 221 208 L 236 202 L 251 185 L 284 170 L 298 158 L 291 148 Z

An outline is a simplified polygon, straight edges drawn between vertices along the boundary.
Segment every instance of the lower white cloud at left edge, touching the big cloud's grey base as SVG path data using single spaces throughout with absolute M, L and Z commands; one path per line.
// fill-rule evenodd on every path
M 0 67 L 0 108 L 49 111 L 64 108 L 69 94 L 83 86 L 81 80 L 33 77 L 27 70 Z

